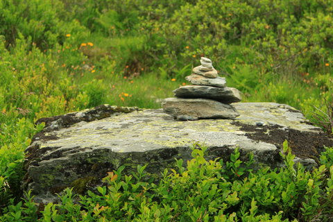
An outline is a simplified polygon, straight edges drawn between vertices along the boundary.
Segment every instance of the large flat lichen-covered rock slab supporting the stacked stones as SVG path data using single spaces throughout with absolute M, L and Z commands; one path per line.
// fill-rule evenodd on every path
M 117 112 L 104 119 L 45 130 L 26 149 L 23 188 L 33 189 L 35 200 L 47 203 L 58 200 L 56 193 L 66 187 L 74 187 L 78 193 L 94 190 L 107 172 L 121 165 L 128 173 L 137 164 L 148 163 L 146 171 L 157 176 L 164 167 L 173 167 L 174 158 L 191 159 L 190 146 L 195 142 L 208 147 L 210 159 L 226 159 L 239 146 L 242 158 L 253 152 L 258 165 L 271 167 L 282 164 L 279 152 L 284 139 L 300 161 L 311 165 L 316 164 L 323 145 L 333 146 L 332 138 L 288 105 L 234 106 L 240 114 L 234 120 L 175 121 L 160 109 Z

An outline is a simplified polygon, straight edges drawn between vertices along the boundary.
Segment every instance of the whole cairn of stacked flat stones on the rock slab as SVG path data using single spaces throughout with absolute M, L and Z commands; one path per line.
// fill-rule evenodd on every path
M 219 77 L 212 60 L 201 57 L 201 65 L 192 69 L 185 79 L 193 85 L 173 90 L 176 98 L 162 102 L 164 112 L 177 120 L 234 119 L 239 116 L 230 103 L 241 101 L 238 89 L 227 87 L 225 78 Z

